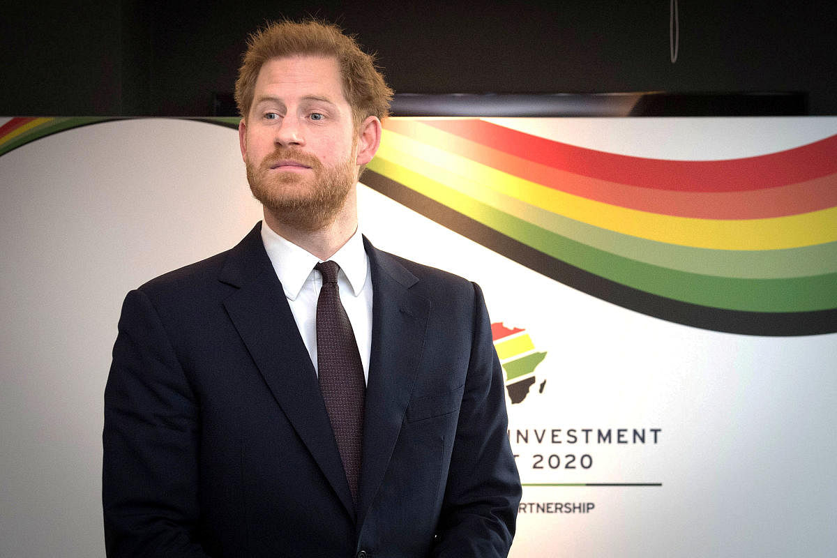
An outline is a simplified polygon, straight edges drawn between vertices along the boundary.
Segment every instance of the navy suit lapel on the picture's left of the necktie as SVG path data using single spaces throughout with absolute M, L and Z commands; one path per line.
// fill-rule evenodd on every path
M 352 495 L 314 366 L 264 251 L 258 225 L 231 250 L 220 280 L 239 287 L 223 303 L 229 318 L 276 402 L 354 517 Z

